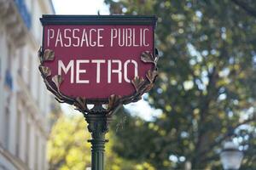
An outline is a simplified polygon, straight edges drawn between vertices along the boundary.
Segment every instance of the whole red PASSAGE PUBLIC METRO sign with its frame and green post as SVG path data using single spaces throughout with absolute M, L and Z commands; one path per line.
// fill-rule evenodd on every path
M 91 168 L 103 170 L 105 133 L 113 111 L 141 99 L 157 77 L 156 18 L 43 15 L 40 20 L 39 71 L 46 88 L 60 103 L 84 114 L 91 133 Z

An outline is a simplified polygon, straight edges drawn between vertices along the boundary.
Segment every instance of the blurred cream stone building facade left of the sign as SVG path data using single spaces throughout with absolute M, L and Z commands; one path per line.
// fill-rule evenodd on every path
M 38 71 L 50 0 L 0 0 L 0 170 L 45 170 L 50 97 Z

